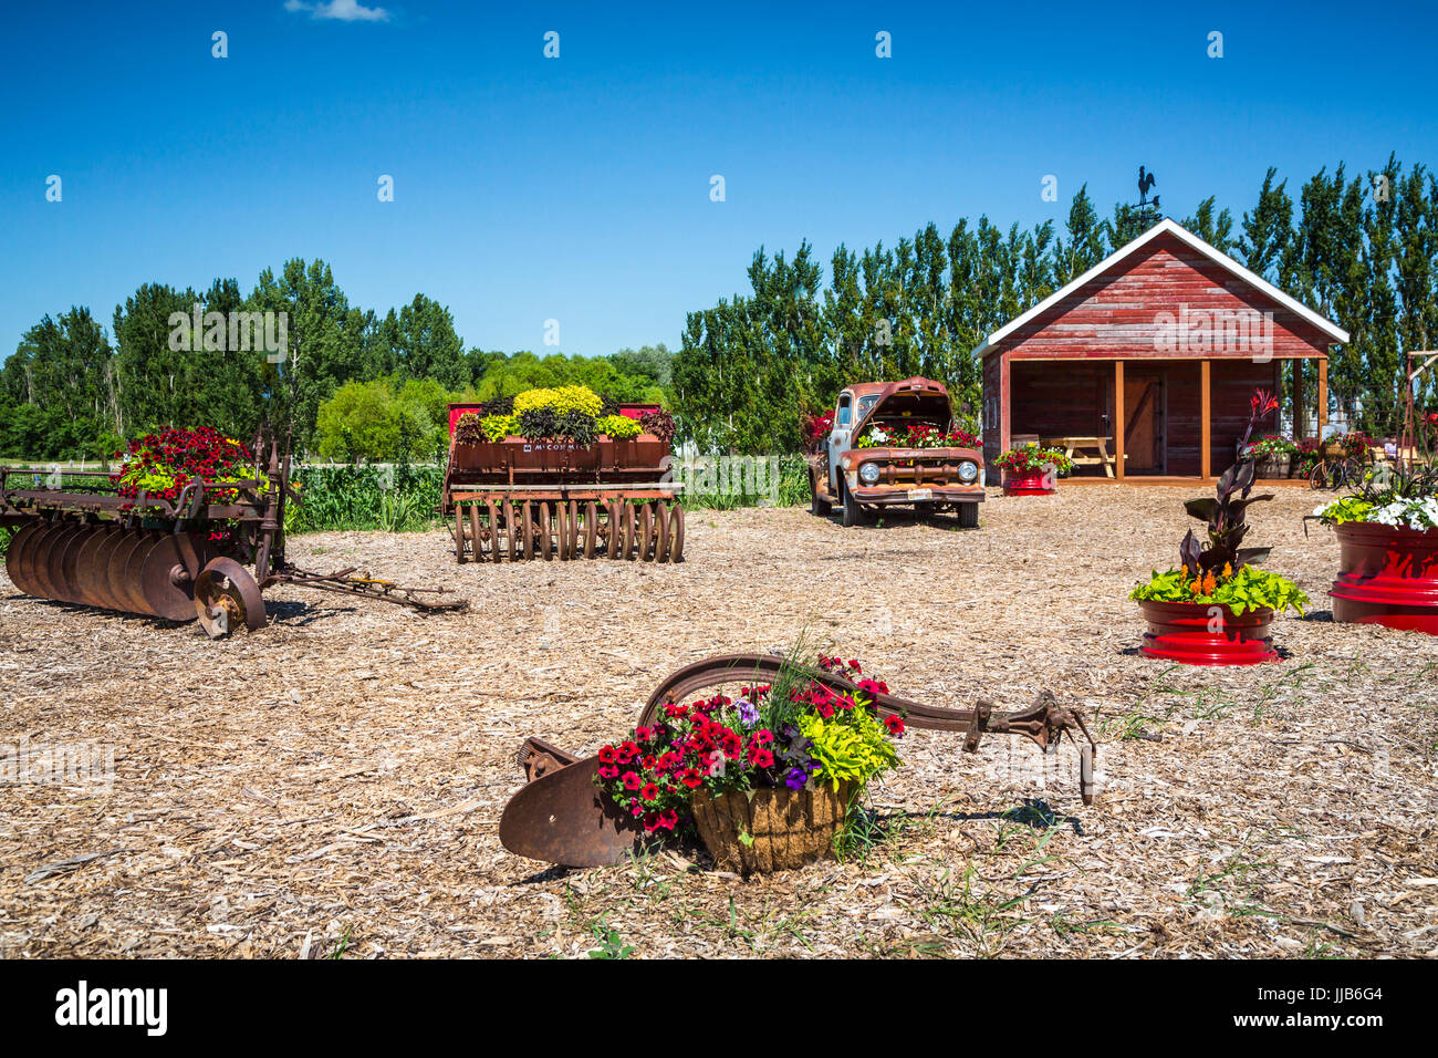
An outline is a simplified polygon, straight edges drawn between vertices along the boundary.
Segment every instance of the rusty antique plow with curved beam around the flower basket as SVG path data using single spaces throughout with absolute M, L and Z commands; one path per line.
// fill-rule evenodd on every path
M 687 665 L 656 688 L 636 727 L 653 724 L 663 705 L 682 702 L 699 691 L 725 684 L 772 681 L 784 665 L 784 658 L 762 654 L 733 654 Z M 834 691 L 858 691 L 841 677 L 820 669 L 800 671 Z M 1057 753 L 1060 741 L 1068 736 L 1078 746 L 1083 803 L 1091 805 L 1097 799 L 1093 769 L 1099 747 L 1083 714 L 1060 704 L 1048 691 L 1030 708 L 1017 713 L 994 713 L 988 701 L 955 710 L 892 694 L 864 694 L 881 717 L 897 715 L 907 727 L 962 734 L 966 753 L 978 751 L 985 734 L 1022 736 L 1044 753 Z M 594 785 L 598 757 L 580 759 L 539 738 L 526 738 L 518 763 L 526 783 L 509 799 L 499 820 L 499 841 L 506 849 L 562 867 L 611 867 L 634 849 L 640 829 Z

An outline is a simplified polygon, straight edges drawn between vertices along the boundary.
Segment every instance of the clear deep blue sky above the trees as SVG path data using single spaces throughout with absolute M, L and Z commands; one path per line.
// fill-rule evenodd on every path
M 1133 200 L 1140 163 L 1179 219 L 1208 194 L 1237 216 L 1268 166 L 1297 191 L 1438 164 L 1434 7 L 1087 7 L 12 6 L 0 356 L 46 312 L 109 327 L 142 282 L 247 292 L 293 256 L 365 308 L 429 294 L 469 345 L 546 351 L 555 318 L 565 353 L 676 347 L 761 243 L 827 262 L 929 220 L 1061 225 L 1081 183 L 1104 214 Z

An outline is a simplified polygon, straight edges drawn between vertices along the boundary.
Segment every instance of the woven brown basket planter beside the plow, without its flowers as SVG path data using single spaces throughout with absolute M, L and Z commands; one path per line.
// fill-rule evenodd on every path
M 690 808 L 705 848 L 720 871 L 766 874 L 834 858 L 853 783 L 817 783 L 812 790 L 761 787 L 718 797 L 696 795 Z M 741 835 L 745 839 L 741 839 Z

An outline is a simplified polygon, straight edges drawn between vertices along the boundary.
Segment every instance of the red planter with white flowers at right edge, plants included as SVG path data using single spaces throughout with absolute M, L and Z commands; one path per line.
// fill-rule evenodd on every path
M 1334 620 L 1438 635 L 1438 465 L 1372 471 L 1311 517 L 1339 538 Z

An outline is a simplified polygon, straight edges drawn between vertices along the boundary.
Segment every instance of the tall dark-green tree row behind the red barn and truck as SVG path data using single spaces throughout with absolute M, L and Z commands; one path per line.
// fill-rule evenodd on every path
M 1270 168 L 1237 222 L 1209 196 L 1179 223 L 1346 328 L 1352 341 L 1329 366 L 1330 410 L 1373 433 L 1399 429 L 1403 353 L 1438 343 L 1438 177 L 1425 166 L 1405 173 L 1393 157 L 1362 176 L 1340 164 L 1294 200 Z M 971 351 L 1146 226 L 1126 203 L 1100 217 L 1084 186 L 1061 232 L 1054 222 L 1005 230 L 981 216 L 945 236 L 929 223 L 892 248 L 840 245 L 827 284 L 808 242 L 792 258 L 761 246 L 749 292 L 687 314 L 673 364 L 676 419 L 702 449 L 795 451 L 805 416 L 843 386 L 913 374 L 948 384 L 976 417 L 982 380 Z M 1316 367 L 1304 370 L 1314 393 Z M 1434 402 L 1432 380 L 1419 399 Z

